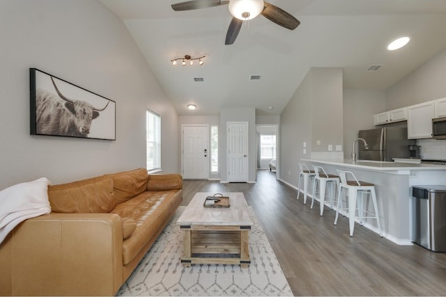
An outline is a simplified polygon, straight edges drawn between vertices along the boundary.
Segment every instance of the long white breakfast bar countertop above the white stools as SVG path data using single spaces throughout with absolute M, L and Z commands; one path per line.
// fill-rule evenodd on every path
M 352 159 L 302 159 L 302 161 L 375 171 L 446 170 L 445 165 L 434 164 L 398 163 L 367 160 L 353 161 Z

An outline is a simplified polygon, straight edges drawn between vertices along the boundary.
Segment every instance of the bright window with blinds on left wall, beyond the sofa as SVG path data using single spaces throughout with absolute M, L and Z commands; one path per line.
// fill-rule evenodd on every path
M 147 170 L 161 169 L 161 118 L 152 111 L 146 111 Z

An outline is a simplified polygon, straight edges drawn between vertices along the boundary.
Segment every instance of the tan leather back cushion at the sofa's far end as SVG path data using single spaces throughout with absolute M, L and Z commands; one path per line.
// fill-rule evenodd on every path
M 144 168 L 118 172 L 107 175 L 107 177 L 113 179 L 116 204 L 125 202 L 146 191 L 148 174 Z

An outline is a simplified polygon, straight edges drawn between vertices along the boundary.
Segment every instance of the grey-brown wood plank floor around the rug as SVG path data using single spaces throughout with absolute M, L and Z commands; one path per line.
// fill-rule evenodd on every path
M 183 205 L 196 192 L 243 192 L 268 236 L 295 296 L 446 296 L 446 253 L 397 246 L 333 210 L 310 209 L 302 195 L 259 171 L 256 184 L 185 181 Z M 446 236 L 446 234 L 445 234 Z

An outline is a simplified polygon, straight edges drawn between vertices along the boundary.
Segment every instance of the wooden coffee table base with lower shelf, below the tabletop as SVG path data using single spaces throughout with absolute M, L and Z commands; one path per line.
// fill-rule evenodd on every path
M 251 226 L 180 225 L 184 232 L 183 266 L 191 264 L 240 264 L 247 268 Z

